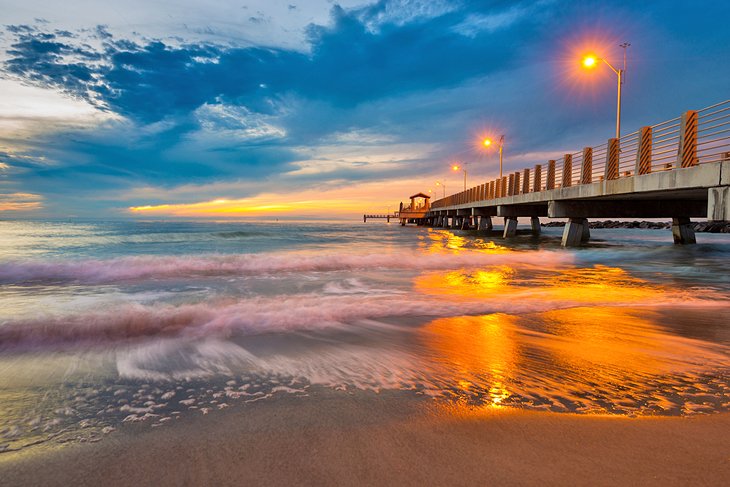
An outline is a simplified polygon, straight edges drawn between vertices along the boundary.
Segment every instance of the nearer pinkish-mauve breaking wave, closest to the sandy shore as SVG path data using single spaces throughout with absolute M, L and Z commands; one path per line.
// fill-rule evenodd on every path
M 650 305 L 718 306 L 690 293 L 667 292 Z M 580 296 L 554 296 L 534 289 L 509 294 L 450 296 L 435 299 L 420 293 L 296 294 L 253 297 L 237 301 L 193 304 L 127 304 L 104 311 L 50 315 L 0 324 L 0 350 L 56 350 L 86 345 L 109 345 L 153 337 L 228 337 L 325 329 L 352 330 L 369 320 L 417 320 L 490 313 L 524 314 L 583 306 Z M 641 306 L 636 301 L 592 300 L 593 306 Z

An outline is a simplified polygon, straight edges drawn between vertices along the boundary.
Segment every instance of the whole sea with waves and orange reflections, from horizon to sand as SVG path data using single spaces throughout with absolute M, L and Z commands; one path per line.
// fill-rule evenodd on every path
M 321 388 L 730 409 L 730 235 L 0 221 L 0 452 Z

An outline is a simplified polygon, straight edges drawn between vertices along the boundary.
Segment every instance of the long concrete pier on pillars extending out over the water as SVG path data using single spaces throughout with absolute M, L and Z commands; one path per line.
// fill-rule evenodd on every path
M 693 244 L 690 218 L 730 220 L 730 100 L 438 199 L 401 224 L 492 230 L 492 217 L 504 238 L 519 217 L 534 234 L 541 217 L 567 218 L 566 247 L 590 239 L 589 218 L 671 218 L 674 242 Z

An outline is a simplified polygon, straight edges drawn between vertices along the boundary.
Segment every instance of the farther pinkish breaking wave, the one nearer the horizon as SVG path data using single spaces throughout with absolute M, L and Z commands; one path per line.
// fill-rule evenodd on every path
M 572 262 L 567 252 L 458 254 L 303 254 L 279 252 L 210 256 L 138 256 L 77 261 L 0 263 L 0 283 L 71 282 L 109 284 L 141 279 L 261 275 L 291 272 L 394 269 L 441 270 L 488 265 L 557 266 Z

